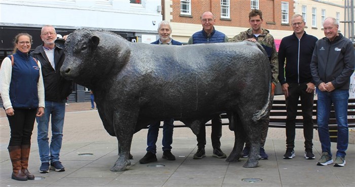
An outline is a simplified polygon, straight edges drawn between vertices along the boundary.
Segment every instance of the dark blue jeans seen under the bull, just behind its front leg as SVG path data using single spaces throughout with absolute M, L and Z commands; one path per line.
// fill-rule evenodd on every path
M 157 153 L 157 140 L 159 133 L 160 121 L 149 126 L 147 135 L 147 152 Z M 165 119 L 163 124 L 163 151 L 171 150 L 172 131 L 174 129 L 174 119 Z

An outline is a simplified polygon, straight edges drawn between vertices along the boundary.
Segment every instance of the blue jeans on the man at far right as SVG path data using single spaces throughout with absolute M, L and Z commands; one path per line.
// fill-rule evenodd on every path
M 349 129 L 347 125 L 347 104 L 349 99 L 348 90 L 334 90 L 332 92 L 322 92 L 317 89 L 318 102 L 317 102 L 317 123 L 319 141 L 322 144 L 322 152 L 327 152 L 332 156 L 330 150 L 330 136 L 328 121 L 330 116 L 330 109 L 332 103 L 335 109 L 335 118 L 338 124 L 338 137 L 337 137 L 337 157 L 345 157 L 349 141 Z

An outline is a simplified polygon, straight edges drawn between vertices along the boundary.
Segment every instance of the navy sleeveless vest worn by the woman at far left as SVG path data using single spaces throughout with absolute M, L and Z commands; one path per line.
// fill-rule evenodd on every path
M 14 108 L 38 108 L 40 67 L 29 54 L 17 50 L 10 83 L 10 100 Z M 8 56 L 11 59 L 11 56 Z

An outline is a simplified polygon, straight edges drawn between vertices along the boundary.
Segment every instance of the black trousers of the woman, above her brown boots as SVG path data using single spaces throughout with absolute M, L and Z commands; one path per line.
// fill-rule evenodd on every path
M 14 108 L 14 111 L 14 116 L 7 115 L 11 130 L 9 146 L 30 145 L 37 108 Z

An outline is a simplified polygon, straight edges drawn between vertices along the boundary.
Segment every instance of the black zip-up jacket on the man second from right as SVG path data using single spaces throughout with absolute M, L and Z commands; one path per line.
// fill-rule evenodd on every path
M 306 32 L 303 33 L 300 40 L 295 32 L 281 40 L 278 49 L 278 80 L 281 85 L 285 83 L 314 83 L 310 72 L 310 62 L 317 40 Z M 285 59 L 287 63 L 284 76 Z

